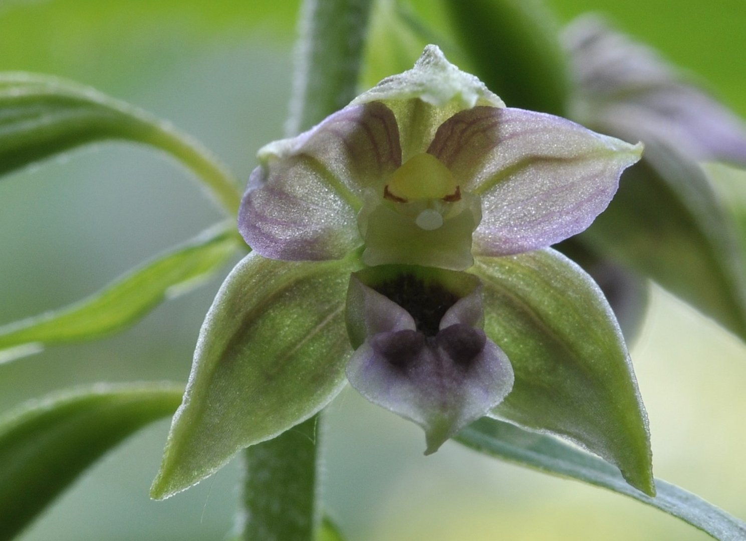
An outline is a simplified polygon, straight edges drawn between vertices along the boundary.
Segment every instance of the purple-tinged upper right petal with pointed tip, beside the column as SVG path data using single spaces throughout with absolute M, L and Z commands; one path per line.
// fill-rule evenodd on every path
M 474 254 L 545 248 L 586 229 L 639 160 L 632 146 L 533 111 L 474 107 L 448 119 L 427 150 L 482 198 Z

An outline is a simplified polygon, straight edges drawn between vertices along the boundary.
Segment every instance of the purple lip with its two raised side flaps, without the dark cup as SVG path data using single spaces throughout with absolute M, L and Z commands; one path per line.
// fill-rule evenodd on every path
M 420 425 L 427 438 L 425 454 L 510 393 L 510 361 L 474 328 L 482 319 L 479 288 L 445 312 L 434 336 L 415 328 L 399 304 L 354 275 L 350 293 L 348 310 L 363 307 L 367 337 L 348 364 L 348 381 L 369 401 Z

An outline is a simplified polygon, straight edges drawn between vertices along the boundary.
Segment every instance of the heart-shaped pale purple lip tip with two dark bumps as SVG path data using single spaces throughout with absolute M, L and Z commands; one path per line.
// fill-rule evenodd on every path
M 485 416 L 513 388 L 504 352 L 480 329 L 459 324 L 435 340 L 416 331 L 377 334 L 357 349 L 347 378 L 369 401 L 420 425 L 425 454 Z

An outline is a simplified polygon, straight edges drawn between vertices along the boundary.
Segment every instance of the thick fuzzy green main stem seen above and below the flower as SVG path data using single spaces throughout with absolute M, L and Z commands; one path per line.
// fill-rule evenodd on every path
M 288 136 L 354 98 L 372 0 L 305 0 Z M 319 416 L 245 450 L 242 540 L 312 541 L 320 525 Z

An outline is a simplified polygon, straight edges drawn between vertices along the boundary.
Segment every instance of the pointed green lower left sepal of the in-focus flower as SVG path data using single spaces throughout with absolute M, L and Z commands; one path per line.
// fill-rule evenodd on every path
M 201 481 L 242 448 L 324 407 L 345 384 L 351 260 L 288 262 L 246 256 L 210 307 L 184 402 L 151 495 Z

